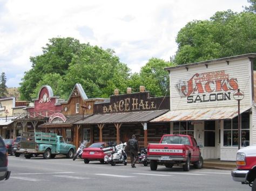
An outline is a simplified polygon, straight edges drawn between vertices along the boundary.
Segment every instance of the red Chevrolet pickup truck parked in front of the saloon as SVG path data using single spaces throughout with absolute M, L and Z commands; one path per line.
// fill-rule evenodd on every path
M 183 165 L 184 171 L 190 171 L 191 163 L 203 168 L 200 148 L 196 140 L 187 135 L 164 135 L 159 144 L 149 144 L 147 160 L 150 160 L 151 171 L 156 171 L 158 164 L 167 168 Z

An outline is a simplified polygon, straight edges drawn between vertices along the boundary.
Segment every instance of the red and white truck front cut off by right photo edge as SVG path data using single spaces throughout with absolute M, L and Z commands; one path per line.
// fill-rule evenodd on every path
M 256 145 L 237 151 L 237 169 L 231 172 L 234 181 L 247 184 L 256 190 Z

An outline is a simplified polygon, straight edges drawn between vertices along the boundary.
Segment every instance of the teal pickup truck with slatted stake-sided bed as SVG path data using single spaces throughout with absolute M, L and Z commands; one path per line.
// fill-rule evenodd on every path
M 21 147 L 16 152 L 24 154 L 26 159 L 43 154 L 44 159 L 55 158 L 56 154 L 65 154 L 66 158 L 73 158 L 76 146 L 65 142 L 56 133 L 23 132 Z

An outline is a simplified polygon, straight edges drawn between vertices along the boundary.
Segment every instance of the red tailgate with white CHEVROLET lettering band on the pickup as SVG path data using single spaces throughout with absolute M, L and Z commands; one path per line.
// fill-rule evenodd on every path
M 147 155 L 183 155 L 183 147 L 180 144 L 150 144 Z

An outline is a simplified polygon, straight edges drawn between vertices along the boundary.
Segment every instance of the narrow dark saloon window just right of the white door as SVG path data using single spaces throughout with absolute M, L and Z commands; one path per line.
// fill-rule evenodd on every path
M 205 121 L 204 146 L 215 146 L 215 121 Z

